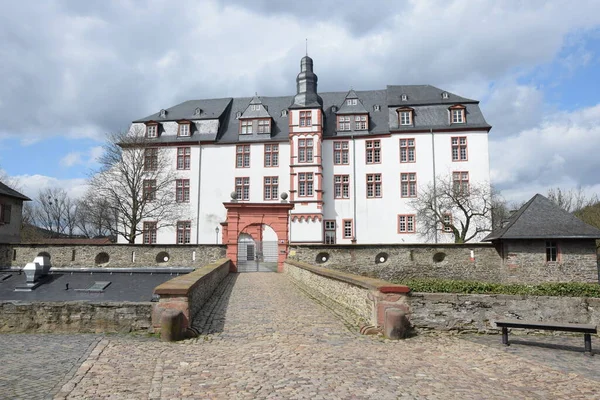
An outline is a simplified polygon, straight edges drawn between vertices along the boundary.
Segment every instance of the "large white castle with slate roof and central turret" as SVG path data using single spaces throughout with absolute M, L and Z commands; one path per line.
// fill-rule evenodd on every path
M 440 175 L 489 182 L 478 101 L 430 85 L 318 93 L 308 56 L 296 81 L 296 95 L 190 100 L 132 123 L 171 153 L 173 191 L 189 203 L 173 227 L 144 222 L 138 243 L 226 242 L 224 203 L 247 203 L 260 220 L 283 193 L 279 243 L 422 243 L 410 206 L 419 188 Z M 274 234 L 263 231 L 259 240 Z

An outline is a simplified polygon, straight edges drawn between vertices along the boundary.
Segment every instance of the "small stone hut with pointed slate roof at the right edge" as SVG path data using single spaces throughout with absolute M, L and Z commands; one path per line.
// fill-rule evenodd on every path
M 536 194 L 484 241 L 492 242 L 510 274 L 539 281 L 598 282 L 597 229 Z

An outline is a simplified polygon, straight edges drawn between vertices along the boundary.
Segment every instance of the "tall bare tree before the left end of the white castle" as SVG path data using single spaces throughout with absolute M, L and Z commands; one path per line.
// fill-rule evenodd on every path
M 91 189 L 106 200 L 117 220 L 115 233 L 128 243 L 143 233 L 144 221 L 154 222 L 158 230 L 183 215 L 175 198 L 173 161 L 142 130 L 110 135 L 99 162 Z

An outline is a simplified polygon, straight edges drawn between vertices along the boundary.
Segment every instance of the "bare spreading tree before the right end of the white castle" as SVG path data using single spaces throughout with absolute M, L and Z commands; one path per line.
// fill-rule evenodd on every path
M 496 198 L 489 184 L 469 185 L 450 175 L 436 178 L 435 186 L 431 183 L 419 188 L 410 204 L 423 236 L 434 240 L 446 232 L 454 236 L 455 243 L 466 243 L 491 231 Z

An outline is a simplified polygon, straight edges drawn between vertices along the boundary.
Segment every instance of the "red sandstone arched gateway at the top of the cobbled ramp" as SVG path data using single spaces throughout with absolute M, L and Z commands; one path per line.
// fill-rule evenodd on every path
M 223 203 L 223 243 L 232 272 L 283 271 L 289 238 L 289 203 Z

